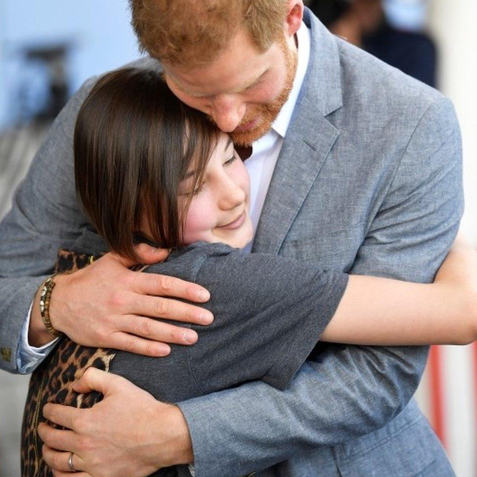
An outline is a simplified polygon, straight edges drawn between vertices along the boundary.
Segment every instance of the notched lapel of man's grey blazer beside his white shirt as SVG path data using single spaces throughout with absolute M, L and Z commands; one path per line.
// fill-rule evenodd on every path
M 263 204 L 253 252 L 279 252 L 339 136 L 326 118 L 342 106 L 338 46 L 308 10 L 304 21 L 311 27 L 308 69 Z

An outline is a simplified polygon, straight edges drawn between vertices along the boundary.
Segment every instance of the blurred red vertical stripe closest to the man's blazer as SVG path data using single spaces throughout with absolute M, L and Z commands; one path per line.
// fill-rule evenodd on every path
M 444 400 L 442 387 L 442 348 L 432 346 L 429 355 L 429 381 L 431 386 L 431 420 L 434 431 L 446 447 Z

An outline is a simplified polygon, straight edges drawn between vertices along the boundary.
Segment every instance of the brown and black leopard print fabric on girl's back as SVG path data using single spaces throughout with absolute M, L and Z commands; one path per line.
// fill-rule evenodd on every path
M 94 260 L 88 255 L 60 250 L 56 272 L 72 272 Z M 30 379 L 22 423 L 22 477 L 52 477 L 42 457 L 43 442 L 38 435 L 38 424 L 44 422 L 43 406 L 47 402 L 90 408 L 102 399 L 99 392 L 79 394 L 71 385 L 89 367 L 109 370 L 114 358 L 111 349 L 77 345 L 67 336 L 59 339 L 57 347 L 37 368 Z M 58 427 L 58 426 L 55 426 Z

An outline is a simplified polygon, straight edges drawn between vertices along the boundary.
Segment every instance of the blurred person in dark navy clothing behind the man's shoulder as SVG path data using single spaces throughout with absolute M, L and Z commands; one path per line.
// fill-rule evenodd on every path
M 423 31 L 392 27 L 380 0 L 311 0 L 308 5 L 336 35 L 404 73 L 436 86 L 434 41 Z

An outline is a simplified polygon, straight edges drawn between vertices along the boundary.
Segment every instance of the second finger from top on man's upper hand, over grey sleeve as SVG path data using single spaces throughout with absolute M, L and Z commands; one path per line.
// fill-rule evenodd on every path
M 132 297 L 131 312 L 134 315 L 165 318 L 166 320 L 210 325 L 214 315 L 205 308 L 170 298 L 136 294 Z

